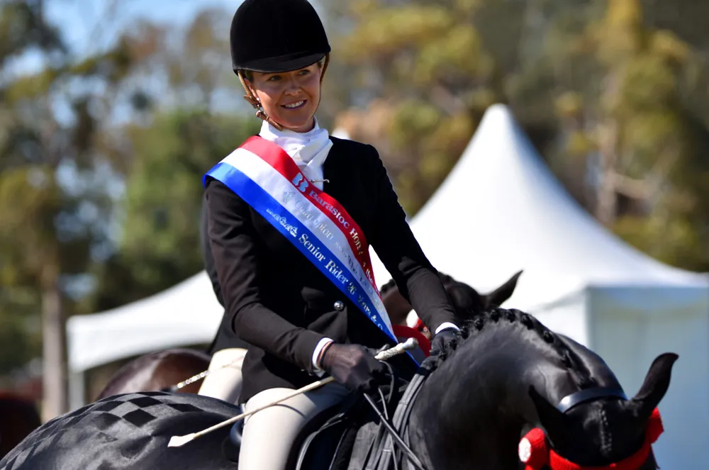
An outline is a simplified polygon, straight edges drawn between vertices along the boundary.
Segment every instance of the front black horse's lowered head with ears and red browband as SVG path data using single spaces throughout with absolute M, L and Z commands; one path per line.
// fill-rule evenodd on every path
M 532 430 L 520 443 L 520 459 L 529 458 L 527 465 L 532 465 L 527 469 L 532 470 L 657 469 L 650 447 L 661 432 L 656 408 L 669 387 L 677 358 L 676 354 L 657 357 L 640 391 L 630 400 L 614 393 L 603 396 L 600 391 L 596 397 L 587 393 L 581 403 L 563 410 L 530 388 L 539 424 L 546 434 L 539 428 Z M 535 464 L 535 459 L 539 463 Z M 547 462 L 541 464 L 544 459 Z

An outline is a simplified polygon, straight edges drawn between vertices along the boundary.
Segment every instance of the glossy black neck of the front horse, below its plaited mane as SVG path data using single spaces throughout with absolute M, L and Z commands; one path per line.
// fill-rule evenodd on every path
M 481 338 L 459 347 L 430 375 L 412 412 L 411 442 L 427 468 L 469 466 L 470 459 L 476 468 L 514 468 L 515 452 L 510 457 L 499 446 L 518 442 L 535 425 L 530 386 L 558 394 L 547 390 L 565 380 L 554 359 L 533 342 Z

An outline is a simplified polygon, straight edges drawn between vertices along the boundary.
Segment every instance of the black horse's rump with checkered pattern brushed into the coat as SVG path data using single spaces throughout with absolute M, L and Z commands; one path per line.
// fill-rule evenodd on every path
M 15 449 L 0 460 L 0 470 L 89 470 L 135 468 L 177 468 L 168 461 L 174 457 L 180 468 L 191 469 L 189 459 L 177 458 L 184 450 L 167 451 L 172 435 L 184 435 L 219 423 L 239 413 L 230 403 L 189 393 L 126 393 L 104 398 L 74 410 L 38 427 Z M 225 428 L 228 432 L 229 427 Z M 214 433 L 212 441 L 223 439 Z M 221 437 L 220 437 L 221 436 Z M 213 444 L 212 442 L 212 444 Z M 212 445 L 205 438 L 204 445 Z M 191 447 L 201 452 L 201 444 Z M 202 459 L 221 459 L 219 446 Z M 214 454 L 212 457 L 211 454 Z M 149 463 L 149 461 L 154 461 Z M 125 466 L 123 466 L 123 464 Z M 143 463 L 148 466 L 143 466 Z M 166 466 L 162 466 L 162 465 Z M 206 468 L 228 469 L 233 464 L 213 461 Z

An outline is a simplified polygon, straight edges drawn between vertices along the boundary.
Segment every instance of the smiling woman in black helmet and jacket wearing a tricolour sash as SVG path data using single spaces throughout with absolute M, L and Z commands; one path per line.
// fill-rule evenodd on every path
M 240 403 L 255 409 L 335 379 L 245 421 L 239 468 L 282 470 L 308 420 L 384 379 L 374 353 L 396 337 L 369 272 L 369 244 L 435 332 L 432 354 L 459 330 L 374 147 L 318 125 L 330 45 L 313 6 L 245 0 L 230 40 L 233 70 L 263 120 L 259 135 L 204 177 L 225 315 L 250 345 Z M 408 355 L 390 362 L 404 376 L 417 367 Z

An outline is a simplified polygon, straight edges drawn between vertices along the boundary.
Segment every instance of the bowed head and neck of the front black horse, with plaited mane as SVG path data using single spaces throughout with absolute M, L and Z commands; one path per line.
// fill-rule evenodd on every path
M 443 356 L 426 364 L 411 412 L 409 437 L 427 468 L 656 468 L 655 410 L 676 354 L 655 359 L 628 399 L 598 354 L 532 315 L 496 308 L 464 324 Z

